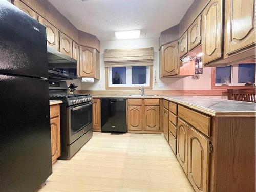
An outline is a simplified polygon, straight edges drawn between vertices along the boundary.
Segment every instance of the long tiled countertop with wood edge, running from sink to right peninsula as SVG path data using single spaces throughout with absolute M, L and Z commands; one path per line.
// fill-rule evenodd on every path
M 215 117 L 255 117 L 256 103 L 210 98 L 207 96 L 159 95 L 159 96 L 129 96 L 129 95 L 92 95 L 93 98 L 163 98 L 188 108 Z

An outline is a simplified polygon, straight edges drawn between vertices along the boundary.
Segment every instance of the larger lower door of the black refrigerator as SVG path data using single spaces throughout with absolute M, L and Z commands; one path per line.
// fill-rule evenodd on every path
M 34 191 L 52 173 L 48 83 L 0 75 L 1 191 Z

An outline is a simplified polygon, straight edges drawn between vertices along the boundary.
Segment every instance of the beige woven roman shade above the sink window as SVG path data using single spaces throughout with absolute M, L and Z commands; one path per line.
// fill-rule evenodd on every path
M 105 67 L 153 66 L 154 48 L 105 49 Z

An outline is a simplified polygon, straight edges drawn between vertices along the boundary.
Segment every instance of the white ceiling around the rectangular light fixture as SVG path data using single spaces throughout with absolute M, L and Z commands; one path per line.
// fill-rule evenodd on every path
M 49 1 L 77 29 L 103 41 L 116 40 L 115 31 L 135 29 L 141 30 L 141 38 L 158 38 L 180 22 L 194 0 Z

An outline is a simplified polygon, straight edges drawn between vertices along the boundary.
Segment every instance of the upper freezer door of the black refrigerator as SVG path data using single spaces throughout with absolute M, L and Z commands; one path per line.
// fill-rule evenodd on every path
M 48 78 L 46 28 L 0 1 L 0 73 Z

